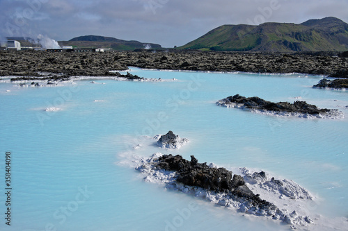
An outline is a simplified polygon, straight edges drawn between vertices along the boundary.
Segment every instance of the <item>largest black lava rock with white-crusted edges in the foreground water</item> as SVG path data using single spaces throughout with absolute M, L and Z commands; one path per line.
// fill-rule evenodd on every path
M 205 198 L 217 205 L 235 208 L 238 212 L 269 217 L 291 225 L 306 226 L 313 223 L 308 216 L 297 212 L 290 214 L 291 210 L 277 207 L 267 200 L 262 200 L 259 194 L 253 193 L 251 189 L 259 192 L 266 189 L 267 194 L 274 194 L 272 196 L 275 198 L 280 198 L 284 193 L 291 199 L 308 198 L 304 194 L 306 191 L 296 187 L 291 180 L 280 181 L 274 178 L 269 180 L 264 171 L 258 173 L 243 168 L 242 176 L 246 174 L 244 177 L 235 174 L 232 178 L 232 171 L 218 168 L 214 164 L 208 166 L 206 163 L 198 163 L 193 155 L 189 161 L 181 155 L 161 155 L 161 153 L 155 153 L 148 159 L 141 158 L 136 170 L 146 175 L 144 178 L 146 182 L 164 183 L 168 189 Z M 251 189 L 248 187 L 249 184 Z M 288 194 L 290 192 L 294 194 Z

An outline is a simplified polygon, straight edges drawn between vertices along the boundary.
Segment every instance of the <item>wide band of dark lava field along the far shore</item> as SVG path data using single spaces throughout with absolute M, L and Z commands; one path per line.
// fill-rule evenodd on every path
M 303 73 L 348 78 L 348 59 L 337 53 L 114 51 L 70 53 L 0 51 L 0 76 L 115 76 L 128 67 L 189 71 Z M 42 76 L 43 75 L 43 76 Z

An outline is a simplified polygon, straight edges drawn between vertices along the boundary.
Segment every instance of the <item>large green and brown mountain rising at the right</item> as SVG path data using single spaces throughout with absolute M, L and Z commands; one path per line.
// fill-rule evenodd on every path
M 347 51 L 348 24 L 335 17 L 302 24 L 223 25 L 179 49 L 212 51 Z

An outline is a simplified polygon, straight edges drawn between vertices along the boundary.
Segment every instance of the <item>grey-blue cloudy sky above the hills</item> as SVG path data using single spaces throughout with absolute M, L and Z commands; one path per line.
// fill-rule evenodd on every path
M 173 47 L 224 24 L 348 22 L 347 12 L 348 0 L 0 0 L 0 40 L 102 35 Z

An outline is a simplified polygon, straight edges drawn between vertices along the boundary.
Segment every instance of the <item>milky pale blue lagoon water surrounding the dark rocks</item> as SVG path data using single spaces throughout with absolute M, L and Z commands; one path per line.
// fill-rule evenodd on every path
M 131 73 L 168 81 L 0 84 L 0 230 L 289 228 L 143 182 L 139 172 L 120 164 L 139 137 L 168 130 L 191 141 L 175 154 L 292 179 L 319 198 L 308 209 L 348 216 L 347 119 L 271 117 L 214 104 L 234 94 L 277 102 L 301 96 L 347 118 L 348 92 L 313 89 L 322 77 L 298 74 Z M 61 110 L 45 112 L 49 107 Z M 10 227 L 4 219 L 6 151 L 12 153 Z M 156 151 L 171 153 L 155 147 L 140 153 Z

